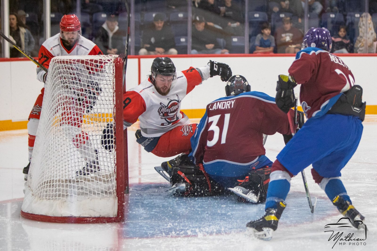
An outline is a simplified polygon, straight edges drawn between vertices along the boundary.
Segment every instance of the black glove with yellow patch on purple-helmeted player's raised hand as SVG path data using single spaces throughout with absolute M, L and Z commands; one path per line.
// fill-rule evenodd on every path
M 287 113 L 291 107 L 294 106 L 294 93 L 293 88 L 297 84 L 286 75 L 279 75 L 279 80 L 276 86 L 276 105 L 283 112 Z

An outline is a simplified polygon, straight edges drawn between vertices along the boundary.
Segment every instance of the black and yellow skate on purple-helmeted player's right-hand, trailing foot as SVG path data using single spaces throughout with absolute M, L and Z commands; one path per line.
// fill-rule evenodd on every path
M 339 212 L 343 214 L 343 216 L 351 220 L 352 226 L 357 229 L 365 229 L 365 224 L 363 224 L 365 217 L 362 216 L 348 200 L 345 200 L 343 196 L 337 195 L 333 199 L 333 204 L 338 208 Z

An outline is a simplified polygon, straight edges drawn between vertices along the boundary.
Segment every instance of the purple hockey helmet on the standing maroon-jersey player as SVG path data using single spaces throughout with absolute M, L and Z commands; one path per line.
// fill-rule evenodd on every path
M 326 28 L 310 28 L 305 34 L 302 49 L 317 47 L 325 51 L 331 51 L 331 35 Z

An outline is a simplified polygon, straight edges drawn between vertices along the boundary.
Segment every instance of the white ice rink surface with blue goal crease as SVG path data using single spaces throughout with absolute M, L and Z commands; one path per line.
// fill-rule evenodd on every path
M 314 183 L 308 167 L 308 187 L 311 196 L 317 197 L 314 214 L 299 175 L 291 180 L 287 208 L 269 242 L 254 239 L 245 227 L 264 214 L 264 204 L 241 203 L 235 195 L 170 196 L 166 192 L 169 184 L 153 167 L 171 158 L 156 157 L 137 144 L 137 125 L 128 129 L 130 193 L 126 195 L 124 223 L 63 224 L 23 219 L 27 130 L 0 132 L 0 250 L 376 250 L 377 115 L 367 115 L 363 125 L 359 148 L 343 169 L 342 181 L 354 206 L 365 216 L 368 231 L 325 228 L 337 223 L 341 214 Z M 266 155 L 274 161 L 283 147 L 281 135 L 268 136 Z M 343 232 L 342 238 L 353 234 L 352 240 L 329 240 L 332 231 Z

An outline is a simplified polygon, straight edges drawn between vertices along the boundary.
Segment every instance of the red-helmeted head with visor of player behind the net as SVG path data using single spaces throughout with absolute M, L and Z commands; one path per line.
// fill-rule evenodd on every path
M 64 15 L 60 20 L 60 38 L 63 43 L 72 46 L 81 35 L 80 20 L 76 15 Z

